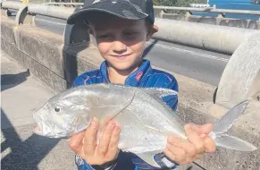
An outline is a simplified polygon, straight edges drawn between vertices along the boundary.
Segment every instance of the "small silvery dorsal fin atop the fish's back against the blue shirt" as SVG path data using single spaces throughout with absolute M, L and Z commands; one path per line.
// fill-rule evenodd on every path
M 157 98 L 164 98 L 169 95 L 178 95 L 178 92 L 172 89 L 164 89 L 164 88 L 141 88 L 148 95 L 155 96 Z

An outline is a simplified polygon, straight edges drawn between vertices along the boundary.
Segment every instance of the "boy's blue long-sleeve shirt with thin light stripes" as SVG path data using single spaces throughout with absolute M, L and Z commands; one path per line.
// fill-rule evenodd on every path
M 103 62 L 100 65 L 100 68 L 91 72 L 82 73 L 79 77 L 73 82 L 73 86 L 88 85 L 94 83 L 109 83 L 108 73 L 107 73 L 107 64 Z M 138 68 L 137 71 L 132 72 L 126 79 L 125 85 L 134 86 L 134 87 L 144 87 L 144 88 L 165 88 L 173 89 L 179 91 L 179 86 L 176 79 L 172 74 L 168 72 L 159 71 L 153 69 L 149 60 L 144 60 L 143 64 Z M 177 96 L 167 96 L 163 98 L 164 102 L 172 107 L 175 111 L 178 106 L 178 97 Z M 162 166 L 161 169 L 175 169 L 178 165 L 170 161 L 165 155 L 157 154 L 155 155 L 155 161 L 158 165 Z M 76 165 L 79 170 L 94 170 L 95 166 L 88 165 L 82 158 L 78 155 L 75 157 Z M 116 162 L 106 168 L 107 170 L 139 170 L 139 169 L 155 169 L 153 166 L 149 166 L 139 157 L 131 154 L 129 152 L 120 152 Z

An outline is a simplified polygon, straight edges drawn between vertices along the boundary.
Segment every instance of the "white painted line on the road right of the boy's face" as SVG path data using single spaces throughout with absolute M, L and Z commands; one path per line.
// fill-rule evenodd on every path
M 147 43 L 154 44 L 154 43 L 151 43 L 151 42 L 147 42 Z M 182 53 L 189 53 L 190 55 L 199 55 L 199 56 L 203 56 L 205 58 L 210 58 L 210 59 L 222 61 L 222 62 L 225 62 L 225 63 L 229 62 L 229 59 L 226 59 L 226 58 L 220 58 L 220 57 L 217 57 L 217 56 L 214 56 L 214 55 L 205 55 L 205 54 L 202 54 L 202 53 L 196 53 L 196 52 L 189 51 L 189 50 L 186 50 L 186 49 L 181 49 L 179 47 L 168 47 L 168 46 L 164 46 L 164 45 L 161 45 L 161 44 L 155 44 L 155 46 L 164 47 L 165 49 L 173 49 L 175 51 L 180 51 Z

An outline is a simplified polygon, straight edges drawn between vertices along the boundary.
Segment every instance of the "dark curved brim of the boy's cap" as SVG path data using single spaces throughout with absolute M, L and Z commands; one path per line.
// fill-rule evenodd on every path
M 88 18 L 88 13 L 90 12 L 110 13 L 122 19 L 128 20 L 141 20 L 147 18 L 148 16 L 147 13 L 141 12 L 128 1 L 100 1 L 72 13 L 68 18 L 67 23 L 82 23 Z

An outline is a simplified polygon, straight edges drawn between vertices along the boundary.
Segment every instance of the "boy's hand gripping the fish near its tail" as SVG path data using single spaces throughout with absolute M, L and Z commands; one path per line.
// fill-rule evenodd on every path
M 214 152 L 214 140 L 207 134 L 213 130 L 211 123 L 197 125 L 189 123 L 185 125 L 188 140 L 178 137 L 169 137 L 164 151 L 165 155 L 179 165 L 189 164 L 205 152 Z

